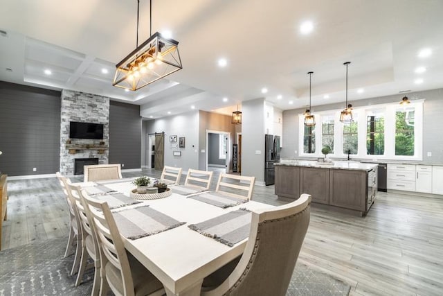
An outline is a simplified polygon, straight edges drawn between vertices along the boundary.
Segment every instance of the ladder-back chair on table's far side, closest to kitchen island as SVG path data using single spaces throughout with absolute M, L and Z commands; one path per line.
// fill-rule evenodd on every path
M 254 184 L 255 177 L 221 173 L 219 175 L 215 192 L 228 195 L 233 198 L 251 200 Z

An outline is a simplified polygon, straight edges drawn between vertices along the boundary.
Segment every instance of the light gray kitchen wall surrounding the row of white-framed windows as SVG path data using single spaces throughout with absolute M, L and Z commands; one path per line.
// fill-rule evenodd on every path
M 352 101 L 354 107 L 377 105 L 383 103 L 400 102 L 405 94 L 382 96 L 364 100 Z M 424 164 L 443 164 L 443 89 L 432 89 L 423 92 L 407 93 L 408 98 L 424 99 L 423 105 L 423 161 Z M 342 109 L 344 103 L 320 105 L 311 108 L 315 112 Z M 298 157 L 298 114 L 304 109 L 286 110 L 283 112 L 283 148 L 280 152 L 282 158 Z M 432 156 L 428 157 L 427 153 Z M 415 163 L 415 162 L 414 162 Z

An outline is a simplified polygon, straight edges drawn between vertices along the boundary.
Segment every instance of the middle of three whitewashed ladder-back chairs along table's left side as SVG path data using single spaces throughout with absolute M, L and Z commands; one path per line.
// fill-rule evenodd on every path
M 71 191 L 71 196 L 75 201 L 75 207 L 78 211 L 78 216 L 81 223 L 82 232 L 82 256 L 80 258 L 80 265 L 78 268 L 77 279 L 75 280 L 75 286 L 82 284 L 84 272 L 90 268 L 95 268 L 94 279 L 92 285 L 91 295 L 98 295 L 100 292 L 100 250 L 97 241 L 97 236 L 93 224 L 91 223 L 90 214 L 87 212 L 87 207 L 84 206 L 82 198 L 82 191 L 80 186 L 75 186 L 68 183 L 68 189 Z M 92 263 L 89 263 L 88 259 L 92 259 Z

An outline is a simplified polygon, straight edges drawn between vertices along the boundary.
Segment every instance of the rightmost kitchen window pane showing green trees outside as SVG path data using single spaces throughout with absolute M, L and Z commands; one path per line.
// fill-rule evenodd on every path
M 414 155 L 414 107 L 395 112 L 395 155 Z

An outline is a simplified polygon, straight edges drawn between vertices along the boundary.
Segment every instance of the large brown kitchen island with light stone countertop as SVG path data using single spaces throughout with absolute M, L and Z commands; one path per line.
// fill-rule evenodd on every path
M 284 160 L 275 164 L 275 194 L 355 211 L 365 216 L 377 194 L 377 164 Z

